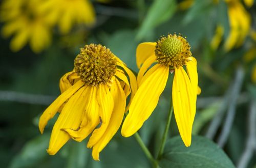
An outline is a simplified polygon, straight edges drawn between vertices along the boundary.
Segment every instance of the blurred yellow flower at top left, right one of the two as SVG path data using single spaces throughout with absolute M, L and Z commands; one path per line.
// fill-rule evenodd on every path
M 40 10 L 48 13 L 47 20 L 57 23 L 63 34 L 69 33 L 74 24 L 95 22 L 95 11 L 89 0 L 47 0 Z

